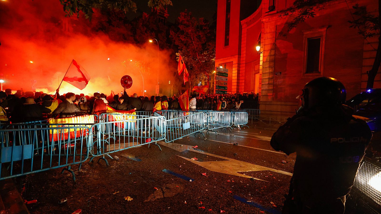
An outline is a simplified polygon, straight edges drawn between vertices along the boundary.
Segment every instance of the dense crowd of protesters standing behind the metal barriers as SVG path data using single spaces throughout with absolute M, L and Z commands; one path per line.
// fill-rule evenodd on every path
M 189 97 L 189 110 L 229 110 L 240 109 L 245 101 L 258 102 L 257 94 L 205 94 Z M 18 90 L 12 94 L 11 89 L 0 91 L 0 121 L 29 122 L 46 118 L 72 117 L 83 114 L 101 114 L 107 112 L 106 104 L 118 111 L 154 111 L 181 110 L 176 96 L 138 97 L 134 93 L 129 96 L 126 90 L 123 94 L 94 93 L 93 96 L 66 93 L 50 95 L 40 92 Z

